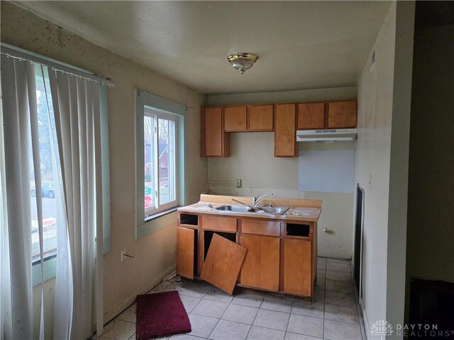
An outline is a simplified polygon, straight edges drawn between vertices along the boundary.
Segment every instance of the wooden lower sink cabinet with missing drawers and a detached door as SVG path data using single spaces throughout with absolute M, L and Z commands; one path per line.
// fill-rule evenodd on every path
M 316 222 L 280 222 L 180 212 L 177 274 L 190 279 L 201 276 L 212 240 L 216 237 L 245 248 L 237 284 L 307 297 L 314 295 Z M 218 250 L 214 255 L 218 257 L 214 256 L 216 261 L 212 261 L 211 266 L 225 269 L 233 263 L 233 256 L 223 256 Z

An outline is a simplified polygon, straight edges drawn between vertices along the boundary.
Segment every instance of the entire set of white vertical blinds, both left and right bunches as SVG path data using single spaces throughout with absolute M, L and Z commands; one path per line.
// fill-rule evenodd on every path
M 38 74 L 35 69 L 39 68 L 30 61 L 1 55 L 0 339 L 43 339 L 45 334 L 38 135 L 38 125 L 43 122 L 38 121 L 36 81 L 41 77 L 44 87 L 46 81 L 44 67 L 40 67 Z M 55 139 L 50 132 L 55 201 L 63 207 L 57 210 L 62 210 L 64 215 L 57 216 L 54 339 L 87 339 L 94 332 L 95 307 L 98 335 L 102 334 L 104 322 L 99 84 L 54 69 L 48 72 L 52 98 L 48 97 L 49 89 L 44 92 L 46 112 L 52 112 L 53 104 L 55 115 Z M 53 120 L 51 123 L 48 115 L 49 130 L 51 126 Z M 35 316 L 31 170 L 37 214 L 33 218 L 37 218 L 40 246 L 40 314 Z M 33 317 L 40 318 L 35 334 Z

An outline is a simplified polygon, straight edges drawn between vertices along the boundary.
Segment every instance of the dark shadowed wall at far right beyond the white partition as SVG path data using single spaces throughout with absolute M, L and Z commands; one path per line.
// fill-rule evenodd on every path
M 454 283 L 453 41 L 453 25 L 415 31 L 407 284 L 411 278 Z

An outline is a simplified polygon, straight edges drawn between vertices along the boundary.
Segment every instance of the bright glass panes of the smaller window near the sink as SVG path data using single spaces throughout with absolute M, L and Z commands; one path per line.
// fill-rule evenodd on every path
M 145 107 L 143 116 L 145 217 L 177 205 L 177 119 Z

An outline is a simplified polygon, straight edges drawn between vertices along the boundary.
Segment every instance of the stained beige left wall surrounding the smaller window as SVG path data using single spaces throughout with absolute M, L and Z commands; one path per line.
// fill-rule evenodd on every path
M 1 42 L 104 74 L 109 89 L 111 251 L 104 256 L 104 321 L 130 305 L 175 269 L 176 213 L 163 217 L 163 229 L 135 239 L 134 89 L 187 106 L 185 128 L 187 203 L 206 191 L 206 159 L 200 154 L 200 105 L 204 96 L 157 72 L 96 46 L 54 24 L 1 1 Z M 135 259 L 121 262 L 127 249 Z M 53 310 L 48 317 L 53 316 Z

